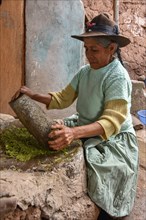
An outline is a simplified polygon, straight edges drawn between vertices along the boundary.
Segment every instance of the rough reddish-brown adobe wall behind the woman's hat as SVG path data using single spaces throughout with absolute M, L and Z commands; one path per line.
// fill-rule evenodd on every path
M 113 18 L 112 0 L 82 0 L 87 17 L 92 19 L 99 13 L 106 12 Z M 119 27 L 121 34 L 131 39 L 131 44 L 122 49 L 122 58 L 126 62 L 131 79 L 139 75 L 146 77 L 145 69 L 145 12 L 144 0 L 119 1 Z

